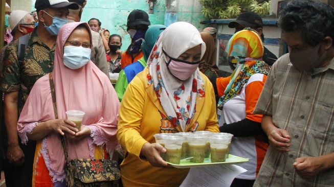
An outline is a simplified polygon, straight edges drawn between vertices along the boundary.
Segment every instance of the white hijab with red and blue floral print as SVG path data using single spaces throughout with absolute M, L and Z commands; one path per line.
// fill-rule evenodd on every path
M 205 97 L 204 81 L 199 69 L 185 80 L 177 80 L 166 65 L 168 57 L 179 58 L 187 50 L 202 45 L 201 59 L 205 53 L 205 43 L 198 30 L 187 22 L 175 22 L 167 27 L 155 43 L 148 59 L 148 84 L 154 91 L 166 112 L 169 121 L 179 132 L 187 132 L 195 113 L 196 99 Z

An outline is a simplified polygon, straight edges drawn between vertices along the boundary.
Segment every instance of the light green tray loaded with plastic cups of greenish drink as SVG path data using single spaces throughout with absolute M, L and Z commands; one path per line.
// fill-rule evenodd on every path
M 161 157 L 175 168 L 242 163 L 248 158 L 230 154 L 233 134 L 210 131 L 158 133 L 155 142 L 165 147 Z

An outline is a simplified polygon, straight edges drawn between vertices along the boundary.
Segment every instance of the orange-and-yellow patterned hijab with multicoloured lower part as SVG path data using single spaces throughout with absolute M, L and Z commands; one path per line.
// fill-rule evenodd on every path
M 235 33 L 229 40 L 227 47 L 229 62 L 236 64 L 230 82 L 218 101 L 218 108 L 240 95 L 241 90 L 249 78 L 257 73 L 268 75 L 269 66 L 262 61 L 263 43 L 256 31 L 246 28 Z

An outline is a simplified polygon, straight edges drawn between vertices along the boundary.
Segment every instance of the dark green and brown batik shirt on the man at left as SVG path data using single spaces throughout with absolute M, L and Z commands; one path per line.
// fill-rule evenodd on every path
M 24 62 L 18 61 L 18 40 L 8 44 L 4 55 L 3 79 L 0 89 L 4 92 L 18 91 L 18 109 L 23 108 L 35 82 L 52 72 L 55 45 L 50 49 L 37 36 L 36 29 L 29 37 Z

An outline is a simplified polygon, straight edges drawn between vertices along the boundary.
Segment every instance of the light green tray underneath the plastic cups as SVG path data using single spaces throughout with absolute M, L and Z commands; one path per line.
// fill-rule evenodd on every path
M 168 161 L 167 163 L 174 168 L 195 168 L 195 167 L 207 167 L 207 166 L 214 166 L 214 165 L 234 165 L 234 164 L 243 163 L 247 161 L 249 161 L 248 158 L 242 158 L 242 157 L 230 154 L 229 157 L 226 158 L 226 160 L 222 162 L 211 162 L 211 158 L 204 158 L 204 162 L 201 162 L 201 163 L 191 162 L 190 159 L 182 159 L 180 161 L 180 164 L 175 164 L 175 163 L 171 163 Z

